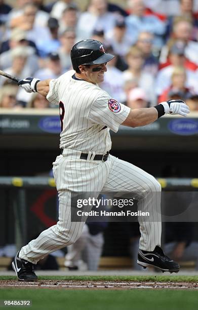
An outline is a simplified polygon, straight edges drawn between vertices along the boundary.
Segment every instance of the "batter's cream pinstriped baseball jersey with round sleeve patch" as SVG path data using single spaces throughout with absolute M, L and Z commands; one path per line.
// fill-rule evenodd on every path
M 60 148 L 95 151 L 111 149 L 109 129 L 117 132 L 130 108 L 117 103 L 97 84 L 74 79 L 70 70 L 50 82 L 47 99 L 60 104 Z

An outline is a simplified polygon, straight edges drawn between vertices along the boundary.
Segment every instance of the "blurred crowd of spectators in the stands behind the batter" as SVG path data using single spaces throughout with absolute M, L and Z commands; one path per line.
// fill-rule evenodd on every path
M 0 69 L 19 79 L 56 79 L 70 50 L 101 41 L 115 55 L 100 87 L 131 108 L 183 99 L 198 110 L 198 0 L 0 0 Z M 125 5 L 123 7 L 123 5 Z M 0 76 L 0 107 L 54 107 Z

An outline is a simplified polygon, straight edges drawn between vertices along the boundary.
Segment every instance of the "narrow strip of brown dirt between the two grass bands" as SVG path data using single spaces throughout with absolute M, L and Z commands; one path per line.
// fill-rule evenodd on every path
M 151 281 L 61 281 L 38 280 L 37 282 L 21 282 L 17 280 L 0 280 L 2 288 L 50 288 L 50 289 L 89 289 L 89 290 L 128 290 L 128 289 L 190 289 L 198 290 L 197 282 L 151 282 Z

